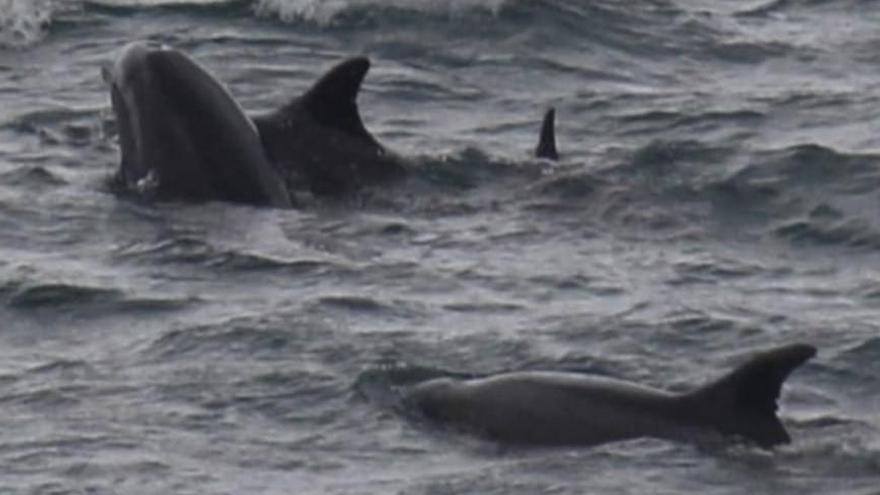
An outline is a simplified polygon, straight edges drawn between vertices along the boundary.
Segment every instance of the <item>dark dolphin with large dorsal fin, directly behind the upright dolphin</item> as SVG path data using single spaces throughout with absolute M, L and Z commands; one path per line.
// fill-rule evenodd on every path
M 361 120 L 356 99 L 369 68 L 366 57 L 345 60 L 302 96 L 254 117 L 269 158 L 289 182 L 304 182 L 315 194 L 340 195 L 406 174 L 403 160 Z

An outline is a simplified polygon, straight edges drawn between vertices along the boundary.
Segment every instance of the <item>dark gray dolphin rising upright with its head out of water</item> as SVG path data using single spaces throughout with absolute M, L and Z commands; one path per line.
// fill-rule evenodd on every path
M 191 58 L 131 43 L 104 78 L 119 129 L 122 187 L 158 199 L 291 205 L 253 122 Z

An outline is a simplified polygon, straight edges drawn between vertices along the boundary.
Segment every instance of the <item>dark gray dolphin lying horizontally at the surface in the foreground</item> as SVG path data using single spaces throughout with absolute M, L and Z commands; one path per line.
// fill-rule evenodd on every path
M 782 382 L 815 353 L 804 344 L 779 347 L 688 393 L 578 373 L 514 372 L 430 380 L 415 386 L 406 401 L 430 419 L 514 444 L 596 445 L 720 433 L 770 448 L 791 441 L 776 416 Z

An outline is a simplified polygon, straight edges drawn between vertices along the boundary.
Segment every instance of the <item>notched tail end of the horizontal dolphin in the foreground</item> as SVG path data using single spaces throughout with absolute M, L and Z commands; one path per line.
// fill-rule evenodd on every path
M 776 401 L 788 375 L 815 355 L 816 348 L 807 344 L 779 347 L 688 397 L 722 433 L 748 438 L 763 448 L 789 443 L 791 437 L 776 415 Z

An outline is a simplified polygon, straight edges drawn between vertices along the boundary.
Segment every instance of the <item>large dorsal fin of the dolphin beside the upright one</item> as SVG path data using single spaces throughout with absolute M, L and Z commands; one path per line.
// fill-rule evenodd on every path
M 321 125 L 378 144 L 364 127 L 356 101 L 368 70 L 370 60 L 366 57 L 354 57 L 340 62 L 327 71 L 300 101 L 312 118 Z

